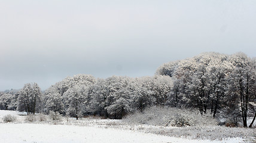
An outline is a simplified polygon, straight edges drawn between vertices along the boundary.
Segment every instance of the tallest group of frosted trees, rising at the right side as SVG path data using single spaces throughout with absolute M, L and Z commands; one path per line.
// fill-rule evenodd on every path
M 243 53 L 209 52 L 163 64 L 157 74 L 172 77 L 170 106 L 197 108 L 201 114 L 211 111 L 213 117 L 219 114 L 235 124 L 242 118 L 247 127 L 248 116 L 256 117 L 255 67 L 255 58 Z

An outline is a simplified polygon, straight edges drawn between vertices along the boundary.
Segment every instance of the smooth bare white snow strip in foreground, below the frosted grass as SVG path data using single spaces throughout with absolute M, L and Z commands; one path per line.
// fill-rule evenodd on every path
M 0 142 L 220 142 L 74 125 L 0 124 Z M 228 142 L 240 142 L 236 138 Z M 227 142 L 227 141 L 225 141 Z

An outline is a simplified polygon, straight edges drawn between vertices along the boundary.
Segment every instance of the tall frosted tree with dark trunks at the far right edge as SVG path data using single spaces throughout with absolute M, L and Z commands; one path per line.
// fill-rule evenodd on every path
M 240 104 L 243 126 L 248 127 L 249 102 L 255 100 L 256 75 L 252 61 L 245 54 L 238 53 L 231 57 L 234 70 L 230 74 L 228 94 L 234 95 Z

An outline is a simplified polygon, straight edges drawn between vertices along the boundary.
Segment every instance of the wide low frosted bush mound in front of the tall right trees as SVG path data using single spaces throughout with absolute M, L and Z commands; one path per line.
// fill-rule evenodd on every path
M 201 116 L 200 113 L 194 111 L 167 107 L 151 107 L 143 112 L 136 112 L 126 116 L 124 121 L 154 126 L 218 125 L 217 120 L 212 119 L 211 115 Z

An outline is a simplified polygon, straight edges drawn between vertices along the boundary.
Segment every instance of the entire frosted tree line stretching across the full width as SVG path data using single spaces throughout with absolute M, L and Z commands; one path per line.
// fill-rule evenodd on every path
M 35 113 L 54 111 L 74 117 L 100 115 L 121 119 L 152 105 L 194 108 L 201 114 L 224 116 L 247 127 L 256 117 L 256 60 L 243 53 L 203 53 L 163 64 L 153 77 L 78 74 L 52 85 L 44 94 L 26 84 L 17 93 L 0 93 L 0 108 Z M 249 127 L 252 126 L 249 125 Z

